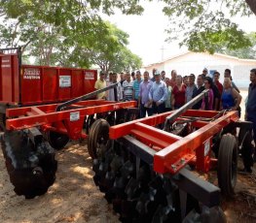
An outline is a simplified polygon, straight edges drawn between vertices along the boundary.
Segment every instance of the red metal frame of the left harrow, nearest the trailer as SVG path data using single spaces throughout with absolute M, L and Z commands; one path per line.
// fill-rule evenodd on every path
M 111 102 L 103 100 L 83 101 L 70 106 L 69 110 L 55 112 L 58 104 L 25 107 L 6 110 L 7 130 L 21 130 L 40 126 L 43 131 L 55 131 L 69 136 L 71 140 L 87 138 L 83 133 L 85 117 L 94 113 L 113 112 L 120 109 L 134 108 L 135 101 Z M 72 115 L 79 118 L 72 120 Z

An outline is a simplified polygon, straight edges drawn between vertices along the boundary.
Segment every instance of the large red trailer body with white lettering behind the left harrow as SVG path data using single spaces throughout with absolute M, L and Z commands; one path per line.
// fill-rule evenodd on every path
M 94 90 L 96 70 L 21 65 L 18 53 L 0 53 L 0 105 L 58 103 Z

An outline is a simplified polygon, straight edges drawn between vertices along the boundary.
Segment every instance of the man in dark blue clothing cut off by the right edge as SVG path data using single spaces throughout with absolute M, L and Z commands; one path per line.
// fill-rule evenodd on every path
M 248 101 L 245 108 L 245 120 L 253 123 L 254 143 L 256 144 L 256 68 L 250 71 L 250 85 L 248 90 Z M 256 152 L 254 151 L 254 161 Z

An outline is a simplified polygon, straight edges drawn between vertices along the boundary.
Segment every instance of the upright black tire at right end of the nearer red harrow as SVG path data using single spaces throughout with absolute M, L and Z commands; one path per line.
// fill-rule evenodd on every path
M 221 193 L 233 197 L 238 174 L 238 144 L 231 134 L 222 136 L 218 152 L 218 184 Z

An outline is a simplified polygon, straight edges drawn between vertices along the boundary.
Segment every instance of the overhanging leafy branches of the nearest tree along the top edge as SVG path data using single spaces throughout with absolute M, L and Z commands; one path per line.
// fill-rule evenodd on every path
M 162 1 L 165 2 L 163 12 L 170 19 L 169 41 L 178 33 L 184 37 L 180 45 L 211 53 L 223 47 L 233 50 L 252 45 L 229 17 L 256 15 L 255 0 Z M 53 25 L 63 37 L 84 33 L 84 38 L 88 39 L 107 28 L 98 15 L 114 14 L 115 9 L 126 15 L 143 12 L 137 0 L 0 0 L 0 16 L 16 18 L 19 22 L 33 18 Z M 71 44 L 72 40 L 66 42 Z

